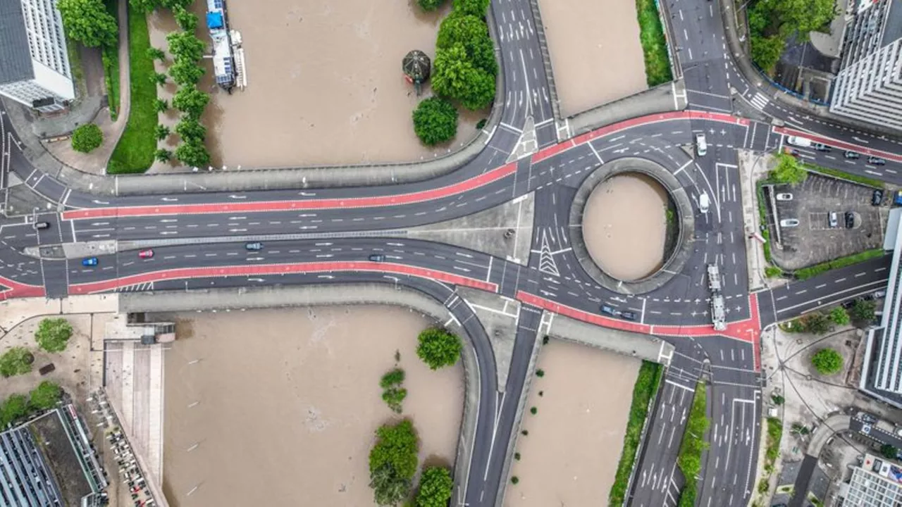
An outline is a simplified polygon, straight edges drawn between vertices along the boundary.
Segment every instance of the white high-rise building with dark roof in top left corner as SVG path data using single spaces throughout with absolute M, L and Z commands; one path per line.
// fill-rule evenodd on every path
M 0 0 L 0 95 L 43 112 L 75 98 L 56 0 Z

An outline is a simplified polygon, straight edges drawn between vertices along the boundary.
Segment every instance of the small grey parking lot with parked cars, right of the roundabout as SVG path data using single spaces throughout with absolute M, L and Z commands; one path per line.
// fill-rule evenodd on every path
M 771 253 L 784 270 L 824 263 L 883 244 L 883 217 L 889 199 L 885 196 L 882 206 L 873 206 L 874 189 L 870 187 L 809 173 L 807 180 L 796 186 L 774 185 L 764 190 L 770 203 Z M 833 212 L 835 224 L 830 220 Z M 848 224 L 847 212 L 851 213 Z M 777 228 L 779 235 L 775 234 Z

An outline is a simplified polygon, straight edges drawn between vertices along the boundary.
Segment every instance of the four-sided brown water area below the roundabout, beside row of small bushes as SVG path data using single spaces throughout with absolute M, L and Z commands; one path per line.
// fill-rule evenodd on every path
M 557 507 L 605 505 L 611 491 L 630 414 L 640 361 L 569 342 L 542 346 L 529 387 L 504 505 Z M 538 392 L 542 392 L 539 396 Z M 527 409 L 529 410 L 529 409 Z

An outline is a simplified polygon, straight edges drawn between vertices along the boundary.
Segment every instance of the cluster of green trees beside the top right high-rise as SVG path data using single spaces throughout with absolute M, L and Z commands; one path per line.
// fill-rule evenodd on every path
M 807 41 L 808 33 L 836 15 L 833 0 L 755 0 L 749 7 L 751 60 L 771 72 L 787 41 Z

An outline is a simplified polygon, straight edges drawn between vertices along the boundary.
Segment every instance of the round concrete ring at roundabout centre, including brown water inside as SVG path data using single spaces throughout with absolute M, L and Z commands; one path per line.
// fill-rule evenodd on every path
M 658 289 L 691 253 L 695 217 L 676 176 L 648 159 L 602 164 L 576 189 L 570 243 L 594 281 L 621 294 Z

